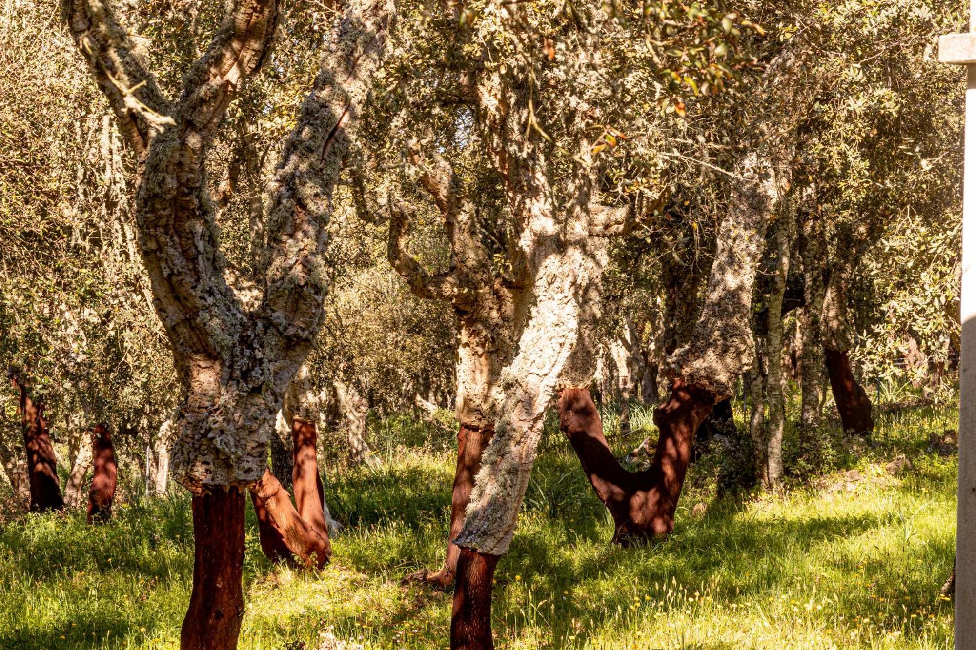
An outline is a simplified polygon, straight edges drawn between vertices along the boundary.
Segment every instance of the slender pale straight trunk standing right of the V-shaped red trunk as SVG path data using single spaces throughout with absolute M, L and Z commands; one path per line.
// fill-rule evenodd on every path
M 766 485 L 779 486 L 783 480 L 783 428 L 786 405 L 783 397 L 783 295 L 790 272 L 790 250 L 793 246 L 793 215 L 781 216 L 776 231 L 779 261 L 769 289 L 769 308 L 766 310 L 768 363 L 766 401 L 769 418 L 766 422 Z

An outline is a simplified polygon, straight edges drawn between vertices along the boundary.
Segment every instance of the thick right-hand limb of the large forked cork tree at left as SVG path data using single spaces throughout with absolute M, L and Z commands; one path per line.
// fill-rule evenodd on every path
M 337 26 L 299 125 L 285 145 L 268 214 L 264 349 L 291 375 L 322 319 L 328 273 L 323 259 L 332 195 L 355 141 L 392 20 L 390 0 L 351 0 Z M 275 371 L 276 375 L 279 374 Z

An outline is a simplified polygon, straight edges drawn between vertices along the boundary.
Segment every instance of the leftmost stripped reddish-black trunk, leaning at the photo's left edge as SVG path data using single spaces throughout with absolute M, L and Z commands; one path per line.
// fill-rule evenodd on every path
M 20 424 L 23 427 L 23 447 L 27 451 L 27 478 L 30 483 L 30 510 L 60 510 L 64 508 L 61 483 L 58 480 L 58 461 L 48 421 L 44 418 L 44 405 L 35 403 L 27 395 L 27 388 L 16 377 L 11 378 L 20 390 Z

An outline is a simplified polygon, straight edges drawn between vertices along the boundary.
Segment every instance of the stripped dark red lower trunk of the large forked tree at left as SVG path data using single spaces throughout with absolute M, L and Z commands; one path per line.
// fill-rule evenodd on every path
M 237 646 L 244 617 L 244 494 L 215 488 L 193 497 L 193 592 L 183 619 L 183 650 Z

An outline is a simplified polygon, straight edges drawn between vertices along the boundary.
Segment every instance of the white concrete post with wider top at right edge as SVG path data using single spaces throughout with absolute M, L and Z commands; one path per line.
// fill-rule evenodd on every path
M 939 61 L 966 66 L 962 190 L 962 350 L 956 509 L 956 650 L 976 650 L 976 0 L 969 33 L 939 39 Z

